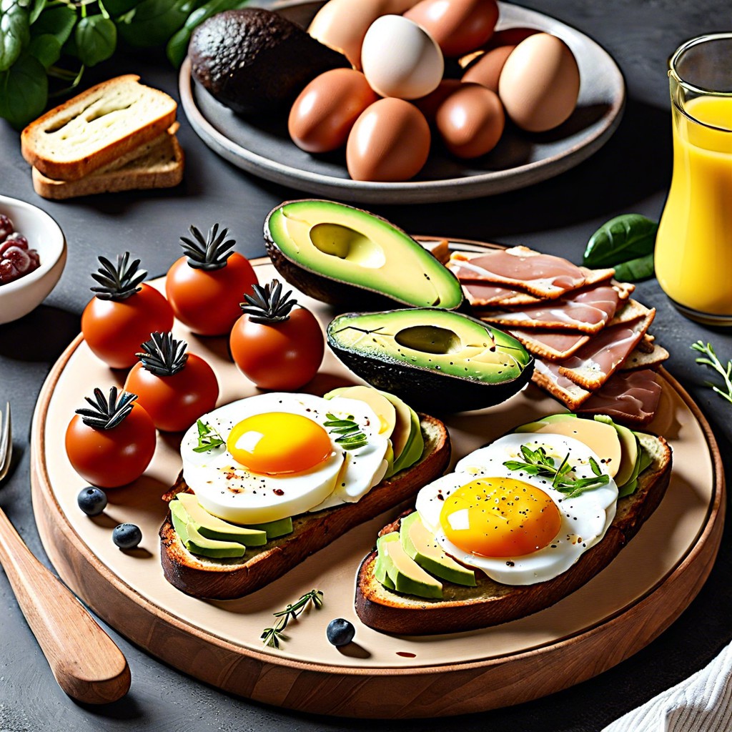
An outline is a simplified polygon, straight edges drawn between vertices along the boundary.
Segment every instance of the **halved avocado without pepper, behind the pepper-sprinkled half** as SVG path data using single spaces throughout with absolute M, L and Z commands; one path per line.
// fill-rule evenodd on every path
M 335 201 L 287 201 L 266 217 L 269 258 L 288 283 L 331 305 L 442 307 L 463 302 L 457 277 L 400 228 Z

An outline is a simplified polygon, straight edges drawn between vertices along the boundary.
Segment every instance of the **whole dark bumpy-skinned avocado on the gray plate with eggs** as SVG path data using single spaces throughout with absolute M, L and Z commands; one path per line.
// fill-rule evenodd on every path
M 195 29 L 188 47 L 196 81 L 242 115 L 277 111 L 318 74 L 351 68 L 346 56 L 277 12 L 217 13 Z

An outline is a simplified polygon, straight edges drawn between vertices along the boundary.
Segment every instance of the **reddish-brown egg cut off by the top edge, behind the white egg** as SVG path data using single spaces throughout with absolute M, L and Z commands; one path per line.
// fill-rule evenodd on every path
M 404 13 L 445 56 L 463 56 L 488 41 L 498 20 L 496 0 L 422 0 Z

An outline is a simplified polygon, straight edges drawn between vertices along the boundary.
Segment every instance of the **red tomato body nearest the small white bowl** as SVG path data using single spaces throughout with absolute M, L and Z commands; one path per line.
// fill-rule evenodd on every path
M 84 340 L 112 368 L 128 368 L 154 331 L 173 327 L 173 309 L 165 297 L 146 283 L 123 300 L 91 299 L 81 315 Z

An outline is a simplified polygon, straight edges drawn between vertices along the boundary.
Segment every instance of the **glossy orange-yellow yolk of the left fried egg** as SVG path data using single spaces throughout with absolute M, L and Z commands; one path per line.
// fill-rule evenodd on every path
M 232 457 L 253 473 L 302 473 L 332 453 L 328 433 L 302 414 L 254 414 L 234 425 L 226 439 Z

